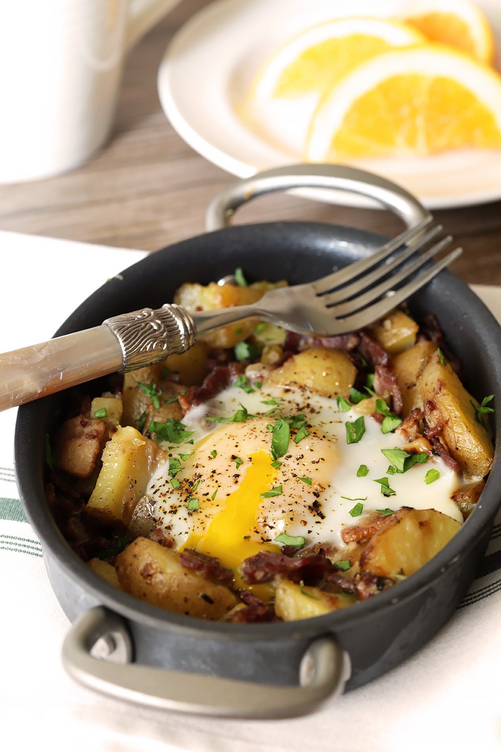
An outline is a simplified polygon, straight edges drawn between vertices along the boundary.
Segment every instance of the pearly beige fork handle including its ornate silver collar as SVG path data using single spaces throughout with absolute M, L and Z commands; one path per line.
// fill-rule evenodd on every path
M 183 353 L 197 337 L 178 305 L 142 308 L 101 326 L 0 354 L 0 411 L 114 371 L 134 371 Z

